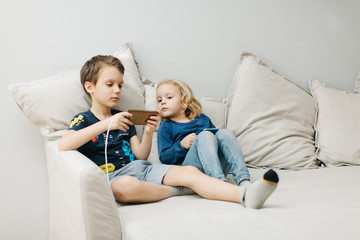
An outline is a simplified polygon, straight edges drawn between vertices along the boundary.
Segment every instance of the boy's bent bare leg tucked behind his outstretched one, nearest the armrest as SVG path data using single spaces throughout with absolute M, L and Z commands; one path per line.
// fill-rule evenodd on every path
M 134 177 L 122 176 L 111 183 L 115 199 L 123 203 L 156 202 L 172 196 L 168 186 L 142 182 Z

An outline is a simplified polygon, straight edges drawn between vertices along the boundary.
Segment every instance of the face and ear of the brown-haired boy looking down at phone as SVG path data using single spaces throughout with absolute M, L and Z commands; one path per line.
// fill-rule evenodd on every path
M 113 108 L 120 100 L 123 83 L 123 74 L 116 67 L 104 66 L 96 85 L 87 82 L 85 87 L 93 104 Z

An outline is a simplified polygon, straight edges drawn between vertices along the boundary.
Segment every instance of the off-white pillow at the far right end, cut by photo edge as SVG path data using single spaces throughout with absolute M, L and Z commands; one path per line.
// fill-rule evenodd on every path
M 316 156 L 327 166 L 360 165 L 360 94 L 311 79 L 309 86 L 317 111 Z

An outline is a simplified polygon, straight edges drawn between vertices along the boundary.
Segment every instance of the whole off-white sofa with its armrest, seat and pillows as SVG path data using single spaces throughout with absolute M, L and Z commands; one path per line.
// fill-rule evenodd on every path
M 156 108 L 155 85 L 140 77 L 133 46 L 114 55 L 126 69 L 118 107 Z M 79 70 L 11 85 L 44 136 L 50 239 L 359 239 L 360 80 L 354 93 L 317 80 L 309 87 L 312 95 L 243 53 L 229 96 L 201 99 L 214 124 L 237 136 L 251 181 L 277 169 L 277 190 L 253 210 L 196 194 L 117 203 L 102 170 L 77 151 L 58 150 L 71 118 L 90 106 Z M 156 137 L 149 161 L 159 161 Z

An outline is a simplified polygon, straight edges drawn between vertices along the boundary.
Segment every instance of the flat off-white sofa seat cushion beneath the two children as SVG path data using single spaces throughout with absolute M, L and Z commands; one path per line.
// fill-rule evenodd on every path
M 264 171 L 250 168 L 251 181 L 261 178 Z M 124 239 L 359 238 L 360 166 L 277 172 L 280 184 L 258 210 L 198 195 L 122 206 L 118 211 Z

